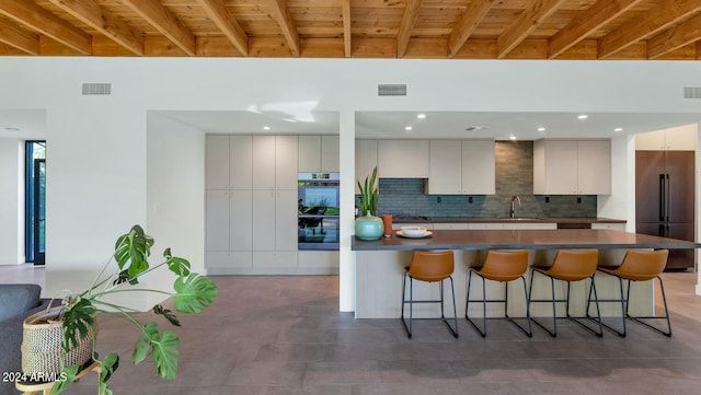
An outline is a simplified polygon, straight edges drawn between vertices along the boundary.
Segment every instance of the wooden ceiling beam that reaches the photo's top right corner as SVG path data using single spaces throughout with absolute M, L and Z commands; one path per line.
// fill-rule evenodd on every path
M 598 58 L 611 57 L 621 49 L 669 28 L 701 11 L 698 0 L 663 0 L 657 7 L 635 18 L 599 39 Z

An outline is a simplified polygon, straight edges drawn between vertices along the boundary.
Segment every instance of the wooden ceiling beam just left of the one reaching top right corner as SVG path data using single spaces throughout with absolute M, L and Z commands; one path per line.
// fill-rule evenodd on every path
M 599 0 L 577 14 L 564 28 L 550 38 L 548 58 L 554 59 L 585 39 L 601 26 L 619 18 L 642 0 Z

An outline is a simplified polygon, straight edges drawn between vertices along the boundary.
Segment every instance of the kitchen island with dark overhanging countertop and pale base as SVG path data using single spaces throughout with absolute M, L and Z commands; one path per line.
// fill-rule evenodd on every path
M 597 248 L 601 265 L 618 265 L 629 248 L 699 248 L 701 244 L 628 233 L 613 230 L 434 230 L 429 237 L 405 239 L 393 234 L 389 239 L 361 241 L 353 237 L 352 249 L 356 255 L 356 309 L 357 318 L 392 318 L 401 312 L 402 275 L 404 266 L 411 262 L 414 249 L 452 249 L 456 266 L 453 280 L 458 316 L 464 315 L 467 275 L 470 267 L 480 266 L 489 249 L 528 249 L 530 265 L 550 265 L 558 249 L 561 248 Z M 527 280 L 528 280 L 527 272 Z M 550 292 L 550 282 L 541 277 L 533 283 L 535 298 L 545 297 Z M 481 283 L 475 287 L 475 294 L 481 293 Z M 435 298 L 437 288 L 428 288 L 425 283 L 415 286 L 415 298 Z M 494 286 L 494 287 L 492 287 Z M 632 289 L 631 304 L 633 314 L 650 314 L 654 310 L 654 291 L 651 284 L 639 284 Z M 498 295 L 501 287 L 489 284 L 487 292 Z M 558 286 L 559 293 L 564 286 Z M 599 298 L 610 298 L 618 288 L 618 281 L 598 276 L 597 289 Z M 573 283 L 573 309 L 583 312 L 588 286 Z M 512 292 L 514 293 L 512 295 Z M 520 293 L 519 293 L 520 292 Z M 522 290 L 509 287 L 510 312 L 514 315 L 525 314 Z M 543 303 L 539 303 L 543 304 Z M 499 306 L 491 312 L 498 311 Z M 601 305 L 604 315 L 620 314 L 620 304 Z M 437 306 L 416 306 L 417 316 L 435 316 Z M 533 316 L 549 315 L 547 305 L 531 311 Z M 472 314 L 472 312 L 471 312 Z M 478 314 L 479 315 L 479 314 Z

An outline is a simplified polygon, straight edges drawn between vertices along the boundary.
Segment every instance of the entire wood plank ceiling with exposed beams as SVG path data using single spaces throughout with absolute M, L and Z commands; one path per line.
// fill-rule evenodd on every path
M 701 0 L 2 0 L 0 56 L 701 59 Z

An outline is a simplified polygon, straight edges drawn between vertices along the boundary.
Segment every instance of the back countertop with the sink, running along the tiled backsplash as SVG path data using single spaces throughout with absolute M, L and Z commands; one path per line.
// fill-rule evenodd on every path
M 544 222 L 544 223 L 625 223 L 625 220 L 601 217 L 413 217 L 392 218 L 394 223 L 509 223 L 509 222 Z

